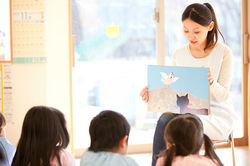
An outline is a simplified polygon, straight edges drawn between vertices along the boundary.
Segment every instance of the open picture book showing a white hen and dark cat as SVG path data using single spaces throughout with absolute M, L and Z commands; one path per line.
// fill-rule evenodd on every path
M 148 66 L 148 111 L 209 114 L 208 68 Z

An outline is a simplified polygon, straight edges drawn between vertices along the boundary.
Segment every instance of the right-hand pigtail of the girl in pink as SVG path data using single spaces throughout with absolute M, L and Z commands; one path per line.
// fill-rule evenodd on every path
M 214 151 L 213 143 L 210 140 L 210 138 L 206 134 L 204 134 L 203 138 L 205 145 L 205 156 L 209 157 L 210 159 L 218 163 L 218 165 L 223 166 L 222 162 L 220 161 L 219 157 Z

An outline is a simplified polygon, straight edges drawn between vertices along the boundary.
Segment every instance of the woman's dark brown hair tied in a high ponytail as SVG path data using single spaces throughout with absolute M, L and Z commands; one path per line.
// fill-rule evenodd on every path
M 189 5 L 182 14 L 182 21 L 188 18 L 202 26 L 208 26 L 212 21 L 214 22 L 214 28 L 207 34 L 207 42 L 204 50 L 217 43 L 218 32 L 224 40 L 224 37 L 218 27 L 214 9 L 209 3 L 194 3 Z

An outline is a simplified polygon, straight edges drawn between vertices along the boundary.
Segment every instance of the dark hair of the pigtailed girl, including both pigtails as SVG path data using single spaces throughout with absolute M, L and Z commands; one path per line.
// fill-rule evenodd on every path
M 165 128 L 164 139 L 166 144 L 167 142 L 171 144 L 162 153 L 166 159 L 164 166 L 171 166 L 175 156 L 198 154 L 203 142 L 205 156 L 220 166 L 223 165 L 213 149 L 212 141 L 203 133 L 201 121 L 191 114 L 181 115 L 171 120 Z

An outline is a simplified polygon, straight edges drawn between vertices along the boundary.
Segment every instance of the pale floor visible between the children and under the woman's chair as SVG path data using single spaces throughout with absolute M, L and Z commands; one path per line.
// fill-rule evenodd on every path
M 224 166 L 233 166 L 232 151 L 230 148 L 218 148 L 216 153 L 221 159 Z M 134 158 L 139 166 L 151 166 L 151 154 L 134 154 L 129 155 Z M 250 151 L 247 146 L 235 148 L 236 166 L 250 166 Z M 77 160 L 77 165 L 80 161 Z

